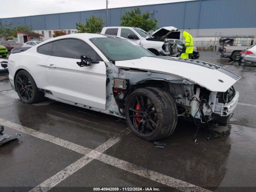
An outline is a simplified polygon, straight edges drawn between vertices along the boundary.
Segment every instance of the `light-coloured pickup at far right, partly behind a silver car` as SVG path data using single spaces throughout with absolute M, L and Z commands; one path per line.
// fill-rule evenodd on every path
M 239 61 L 241 58 L 240 52 L 248 48 L 248 46 L 223 46 L 220 48 L 220 56 L 230 58 L 233 61 Z

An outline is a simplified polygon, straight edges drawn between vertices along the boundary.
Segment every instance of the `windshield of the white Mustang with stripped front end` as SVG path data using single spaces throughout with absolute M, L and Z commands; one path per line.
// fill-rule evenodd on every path
M 101 37 L 91 38 L 90 41 L 110 61 L 131 60 L 154 56 L 149 50 L 127 39 Z

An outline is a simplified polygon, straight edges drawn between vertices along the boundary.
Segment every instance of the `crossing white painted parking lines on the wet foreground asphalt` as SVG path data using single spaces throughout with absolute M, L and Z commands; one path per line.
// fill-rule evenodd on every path
M 122 170 L 131 172 L 133 174 L 137 174 L 139 176 L 143 176 L 145 178 L 148 178 L 150 180 L 159 182 L 161 184 L 170 186 L 172 188 L 176 188 L 178 190 L 181 190 L 183 192 L 210 192 L 209 190 L 206 190 L 204 188 L 201 188 L 199 186 L 195 186 L 193 184 L 190 184 L 188 182 L 184 182 L 182 180 L 178 180 L 176 178 L 166 176 L 164 174 L 148 170 L 146 168 L 134 165 L 132 163 L 126 162 L 124 160 L 120 160 L 118 158 L 109 156 L 107 154 L 103 154 L 106 149 L 110 148 L 116 142 L 118 142 L 121 138 L 121 134 L 118 134 L 114 136 L 114 138 L 111 138 L 110 140 L 106 141 L 102 145 L 98 146 L 95 150 L 74 144 L 72 142 L 68 142 L 66 140 L 62 140 L 60 138 L 56 138 L 54 136 L 44 134 L 42 132 L 38 132 L 36 130 L 30 129 L 28 127 L 18 125 L 15 123 L 12 123 L 10 121 L 4 120 L 0 118 L 0 124 L 13 128 L 15 130 L 18 130 L 20 132 L 24 132 L 26 134 L 29 134 L 31 136 L 34 136 L 36 138 L 40 138 L 49 142 L 52 142 L 54 144 L 57 144 L 59 146 L 68 148 L 70 150 L 73 150 L 75 152 L 78 152 L 80 154 L 84 154 L 85 156 L 77 160 L 76 162 L 70 164 L 68 167 L 64 168 L 51 178 L 45 180 L 40 185 L 36 186 L 31 190 L 31 192 L 47 192 L 54 186 L 56 186 L 58 183 L 60 183 L 62 180 L 67 178 L 68 176 L 72 175 L 74 172 L 88 164 L 93 159 L 99 160 L 101 162 L 104 162 L 106 164 L 112 165 L 114 167 L 120 168 Z M 124 131 L 124 134 L 127 134 L 128 132 Z

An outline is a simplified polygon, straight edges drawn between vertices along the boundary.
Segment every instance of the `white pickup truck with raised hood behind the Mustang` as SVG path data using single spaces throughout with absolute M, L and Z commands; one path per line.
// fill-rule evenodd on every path
M 132 40 L 150 50 L 155 55 L 178 56 L 180 53 L 176 44 L 165 41 L 168 34 L 177 31 L 175 27 L 162 27 L 151 35 L 141 28 L 134 27 L 104 27 L 101 34 L 115 35 Z

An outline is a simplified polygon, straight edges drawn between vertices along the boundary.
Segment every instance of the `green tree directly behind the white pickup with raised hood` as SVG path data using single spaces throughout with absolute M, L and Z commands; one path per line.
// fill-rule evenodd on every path
M 140 8 L 134 8 L 134 10 L 125 11 L 121 16 L 121 26 L 126 27 L 138 27 L 145 31 L 156 30 L 157 20 L 150 19 L 150 13 L 146 12 L 141 14 Z

